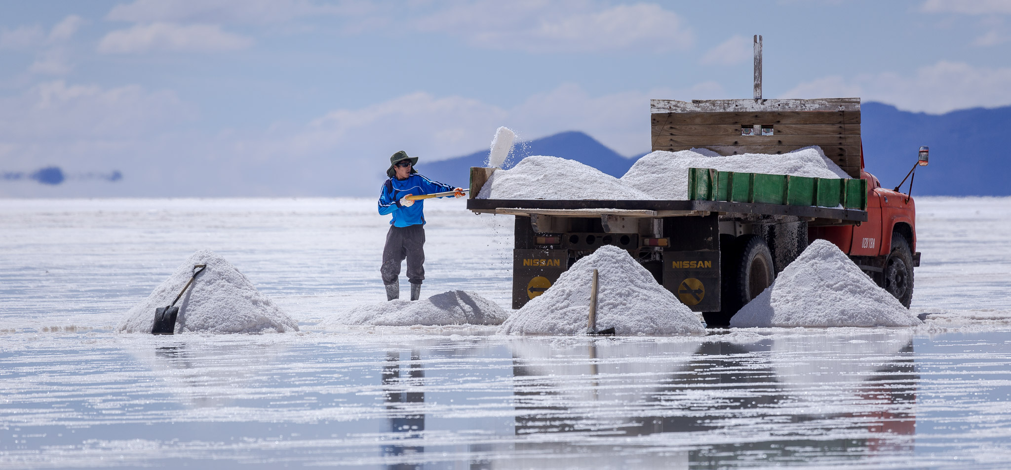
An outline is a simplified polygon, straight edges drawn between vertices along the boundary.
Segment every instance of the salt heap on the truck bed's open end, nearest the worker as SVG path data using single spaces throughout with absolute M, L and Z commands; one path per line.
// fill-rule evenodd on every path
M 544 156 L 527 157 L 510 170 L 495 170 L 477 198 L 654 199 L 593 167 Z

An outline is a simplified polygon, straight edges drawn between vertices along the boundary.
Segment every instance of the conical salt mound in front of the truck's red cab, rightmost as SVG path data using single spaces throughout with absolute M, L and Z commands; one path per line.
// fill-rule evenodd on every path
M 830 242 L 814 241 L 730 319 L 736 327 L 913 326 L 922 323 Z

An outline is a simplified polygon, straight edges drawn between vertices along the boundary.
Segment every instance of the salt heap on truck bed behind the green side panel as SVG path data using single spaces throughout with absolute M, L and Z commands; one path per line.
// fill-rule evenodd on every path
M 706 155 L 709 154 L 709 155 Z M 640 158 L 622 181 L 649 194 L 654 199 L 688 198 L 688 169 L 713 168 L 719 171 L 792 175 L 817 178 L 849 178 L 838 165 L 825 157 L 819 147 L 808 147 L 782 155 L 744 154 L 713 156 L 711 152 L 657 151 Z

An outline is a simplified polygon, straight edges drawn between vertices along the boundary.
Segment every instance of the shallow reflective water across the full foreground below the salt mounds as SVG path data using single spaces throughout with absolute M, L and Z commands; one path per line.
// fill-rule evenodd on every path
M 129 340 L 129 355 L 26 343 L 0 356 L 0 467 L 903 468 L 932 462 L 919 442 L 938 413 L 970 411 L 989 413 L 992 441 L 958 442 L 1011 441 L 997 395 L 967 398 L 999 385 L 924 375 L 936 353 L 905 332 Z M 1007 356 L 980 345 L 960 354 Z

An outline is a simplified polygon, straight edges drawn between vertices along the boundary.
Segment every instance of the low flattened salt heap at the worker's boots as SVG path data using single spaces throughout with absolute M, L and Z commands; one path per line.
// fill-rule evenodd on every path
M 509 316 L 502 307 L 473 292 L 451 290 L 425 300 L 396 299 L 362 305 L 324 321 L 323 325 L 384 326 L 499 324 Z

